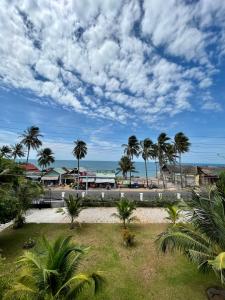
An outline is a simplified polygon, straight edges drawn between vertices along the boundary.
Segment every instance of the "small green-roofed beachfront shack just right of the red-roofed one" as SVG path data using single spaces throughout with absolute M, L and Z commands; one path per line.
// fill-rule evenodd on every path
M 61 185 L 63 183 L 62 178 L 67 173 L 66 168 L 52 168 L 41 177 L 41 181 L 44 185 Z

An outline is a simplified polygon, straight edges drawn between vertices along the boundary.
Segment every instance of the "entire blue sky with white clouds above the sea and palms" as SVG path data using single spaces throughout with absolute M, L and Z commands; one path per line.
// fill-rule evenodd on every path
M 183 131 L 184 162 L 225 163 L 224 104 L 224 0 L 1 0 L 0 145 L 36 125 L 56 159 L 118 160 Z

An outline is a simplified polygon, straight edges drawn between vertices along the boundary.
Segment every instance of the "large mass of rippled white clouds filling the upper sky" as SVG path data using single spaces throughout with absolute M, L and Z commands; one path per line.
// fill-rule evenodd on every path
M 204 94 L 225 54 L 225 2 L 141 3 L 3 0 L 0 84 L 121 123 L 218 110 Z

